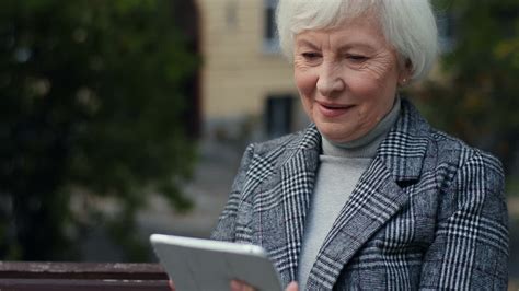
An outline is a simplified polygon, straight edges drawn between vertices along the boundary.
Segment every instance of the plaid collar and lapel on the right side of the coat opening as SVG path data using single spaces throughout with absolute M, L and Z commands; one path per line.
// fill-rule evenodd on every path
M 416 182 L 427 148 L 428 125 L 402 101 L 401 117 L 335 220 L 310 271 L 310 290 L 332 289 L 351 257 L 408 201 L 402 186 Z

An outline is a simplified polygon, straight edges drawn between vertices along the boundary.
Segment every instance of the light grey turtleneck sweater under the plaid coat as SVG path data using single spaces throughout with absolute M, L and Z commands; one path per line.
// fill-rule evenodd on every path
M 322 138 L 323 152 L 315 179 L 304 237 L 299 256 L 298 283 L 304 290 L 313 263 L 326 234 L 348 200 L 360 175 L 400 115 L 400 98 L 377 126 L 359 139 L 335 143 Z M 347 242 L 345 242 L 347 243 Z

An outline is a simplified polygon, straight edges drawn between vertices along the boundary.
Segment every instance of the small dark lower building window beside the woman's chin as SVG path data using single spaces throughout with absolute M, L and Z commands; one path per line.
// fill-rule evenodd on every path
M 292 131 L 295 97 L 290 94 L 269 95 L 265 104 L 265 129 L 267 138 L 277 138 Z

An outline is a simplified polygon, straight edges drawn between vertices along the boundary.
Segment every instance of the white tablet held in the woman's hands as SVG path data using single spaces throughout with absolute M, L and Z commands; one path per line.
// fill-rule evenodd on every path
M 150 242 L 177 291 L 229 291 L 233 279 L 256 290 L 282 290 L 260 246 L 163 234 L 152 234 Z

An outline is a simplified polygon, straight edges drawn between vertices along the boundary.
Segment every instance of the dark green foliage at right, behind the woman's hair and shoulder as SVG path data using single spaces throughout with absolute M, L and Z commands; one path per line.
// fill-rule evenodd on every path
M 497 154 L 511 173 L 519 149 L 519 1 L 439 0 L 436 8 L 452 18 L 454 46 L 442 55 L 446 78 L 420 90 L 423 107 L 435 125 Z

